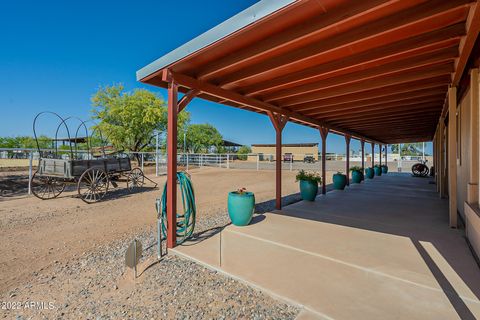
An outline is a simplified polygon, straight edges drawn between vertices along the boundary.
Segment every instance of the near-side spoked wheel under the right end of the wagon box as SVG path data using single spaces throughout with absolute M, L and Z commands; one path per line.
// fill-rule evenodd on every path
M 108 183 L 108 175 L 104 170 L 90 168 L 78 180 L 78 195 L 86 203 L 100 201 L 108 191 Z

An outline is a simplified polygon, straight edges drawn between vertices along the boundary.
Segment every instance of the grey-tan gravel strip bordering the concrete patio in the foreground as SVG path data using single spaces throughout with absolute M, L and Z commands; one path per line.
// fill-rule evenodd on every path
M 294 194 L 284 202 L 298 200 Z M 272 206 L 273 201 L 264 202 L 257 212 Z M 199 221 L 196 233 L 228 222 L 227 214 L 218 212 Z M 130 235 L 68 263 L 56 261 L 53 267 L 34 272 L 35 282 L 0 297 L 2 303 L 17 302 L 15 307 L 20 308 L 2 310 L 2 318 L 294 319 L 299 313 L 296 307 L 189 260 L 167 255 L 156 262 L 155 246 L 150 246 L 155 234 L 149 229 L 136 235 L 146 248 L 136 281 L 124 268 L 125 250 L 134 237 Z M 25 304 L 31 301 L 37 305 L 27 309 Z

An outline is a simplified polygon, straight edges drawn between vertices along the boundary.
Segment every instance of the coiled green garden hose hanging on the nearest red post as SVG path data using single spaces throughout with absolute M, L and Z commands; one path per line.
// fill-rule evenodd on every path
M 180 192 L 182 194 L 183 213 L 177 212 L 177 244 L 185 242 L 193 234 L 195 229 L 195 218 L 197 209 L 195 206 L 195 193 L 193 191 L 192 181 L 186 172 L 177 172 L 177 181 L 180 185 Z M 158 201 L 156 203 L 158 206 Z M 167 238 L 167 183 L 163 187 L 162 200 L 160 208 L 157 207 L 158 214 L 162 215 L 157 218 L 162 221 L 162 240 Z

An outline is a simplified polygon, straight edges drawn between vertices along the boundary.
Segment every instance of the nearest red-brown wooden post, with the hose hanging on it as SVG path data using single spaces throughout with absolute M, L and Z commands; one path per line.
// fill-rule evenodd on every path
M 178 86 L 168 83 L 167 115 L 167 247 L 177 244 L 177 94 Z

